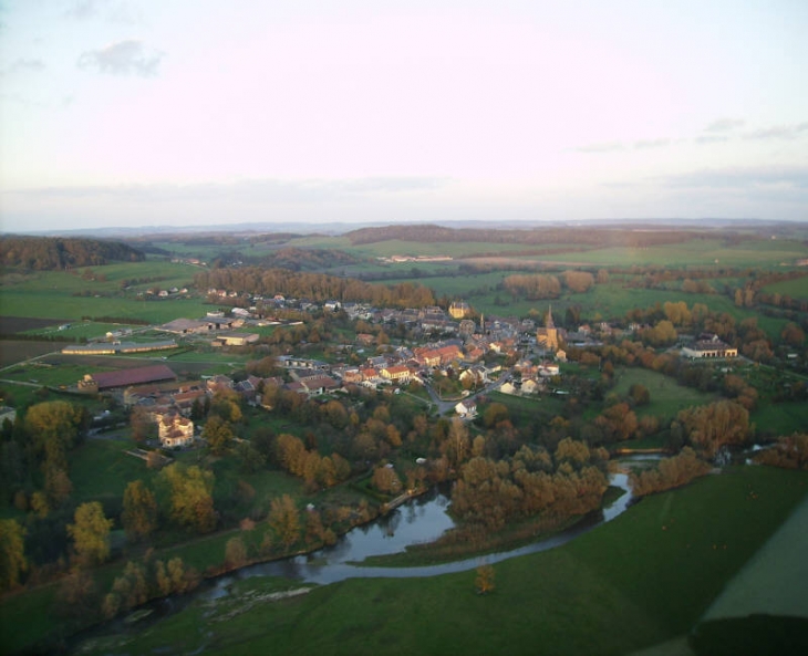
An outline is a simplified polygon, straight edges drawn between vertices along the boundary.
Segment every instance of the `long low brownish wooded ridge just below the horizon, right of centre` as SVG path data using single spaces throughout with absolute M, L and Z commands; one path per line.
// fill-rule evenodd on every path
M 719 233 L 706 230 L 683 230 L 660 228 L 649 223 L 635 227 L 600 228 L 587 226 L 580 228 L 548 227 L 531 229 L 496 229 L 496 228 L 447 228 L 435 225 L 385 226 L 380 228 L 361 228 L 348 232 L 345 237 L 353 244 L 377 243 L 398 239 L 416 242 L 480 242 L 480 243 L 577 243 L 591 246 L 623 246 L 643 248 L 664 243 L 683 243 L 691 239 L 716 235 L 728 237 L 732 233 Z

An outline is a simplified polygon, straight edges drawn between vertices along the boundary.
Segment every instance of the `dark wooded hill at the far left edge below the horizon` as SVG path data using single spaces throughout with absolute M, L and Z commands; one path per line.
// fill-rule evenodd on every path
M 100 239 L 60 237 L 0 237 L 4 267 L 50 271 L 70 267 L 97 267 L 110 262 L 142 262 L 146 256 L 131 246 Z

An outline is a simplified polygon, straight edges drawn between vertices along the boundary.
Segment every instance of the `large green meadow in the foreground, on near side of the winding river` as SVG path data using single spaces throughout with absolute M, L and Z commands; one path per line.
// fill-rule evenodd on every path
M 276 603 L 195 602 L 116 653 L 625 654 L 685 634 L 805 498 L 808 475 L 733 469 L 646 498 L 548 552 L 475 572 L 349 580 Z M 260 581 L 244 582 L 248 597 Z M 199 631 L 199 626 L 206 631 Z M 87 654 L 110 653 L 94 643 Z

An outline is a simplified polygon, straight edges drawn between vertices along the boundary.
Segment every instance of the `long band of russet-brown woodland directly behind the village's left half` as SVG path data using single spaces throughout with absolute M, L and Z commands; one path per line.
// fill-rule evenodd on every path
M 432 290 L 412 282 L 394 285 L 370 284 L 352 278 L 260 267 L 203 271 L 194 277 L 194 284 L 201 291 L 216 288 L 247 294 L 282 294 L 319 302 L 336 300 L 398 308 L 435 304 Z

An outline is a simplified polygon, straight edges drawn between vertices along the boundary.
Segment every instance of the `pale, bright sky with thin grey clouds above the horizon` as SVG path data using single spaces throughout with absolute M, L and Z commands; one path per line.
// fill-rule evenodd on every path
M 808 220 L 805 0 L 0 0 L 0 230 Z

